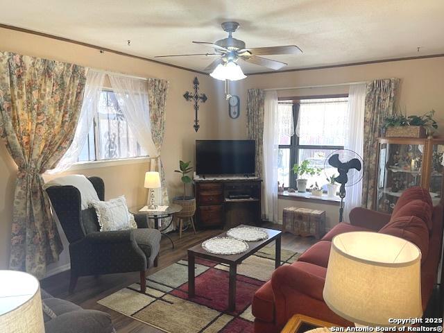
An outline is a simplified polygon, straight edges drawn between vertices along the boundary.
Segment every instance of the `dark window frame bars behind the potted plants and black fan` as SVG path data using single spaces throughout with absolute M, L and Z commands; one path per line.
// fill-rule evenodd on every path
M 293 165 L 298 163 L 299 159 L 299 150 L 315 150 L 315 149 L 329 149 L 329 150 L 340 150 L 343 149 L 344 146 L 321 146 L 321 145 L 307 145 L 307 144 L 299 144 L 299 137 L 296 135 L 296 126 L 298 121 L 298 114 L 300 108 L 300 100 L 302 99 L 341 99 L 348 98 L 348 94 L 329 94 L 329 95 L 316 95 L 316 96 L 291 96 L 291 97 L 279 97 L 279 101 L 282 102 L 291 102 L 293 103 L 293 126 L 295 134 L 291 136 L 290 144 L 280 144 L 278 146 L 279 149 L 290 149 L 290 158 L 289 158 L 289 186 L 284 187 L 284 190 L 291 188 L 290 185 L 296 186 L 296 179 L 298 177 L 293 173 Z M 307 191 L 311 191 L 311 189 L 307 189 Z M 325 192 L 325 191 L 324 191 Z

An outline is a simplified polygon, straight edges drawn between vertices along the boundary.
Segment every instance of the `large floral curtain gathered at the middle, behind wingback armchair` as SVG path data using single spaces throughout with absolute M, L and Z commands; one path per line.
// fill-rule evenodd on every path
M 69 148 L 85 67 L 0 52 L 0 131 L 18 166 L 10 268 L 43 278 L 62 250 L 41 174 Z

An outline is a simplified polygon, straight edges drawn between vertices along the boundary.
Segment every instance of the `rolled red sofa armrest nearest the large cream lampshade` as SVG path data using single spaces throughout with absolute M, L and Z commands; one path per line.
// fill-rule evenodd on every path
M 325 280 L 304 271 L 302 268 L 293 265 L 280 266 L 271 277 L 271 286 L 275 298 L 285 297 L 283 288 L 296 289 L 300 293 L 305 293 L 311 298 L 323 301 L 322 291 Z

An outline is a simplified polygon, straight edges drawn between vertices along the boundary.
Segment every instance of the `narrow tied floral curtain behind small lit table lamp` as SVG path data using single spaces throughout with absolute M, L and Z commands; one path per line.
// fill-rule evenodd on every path
M 162 160 L 160 160 L 160 152 L 162 151 L 162 144 L 164 142 L 165 134 L 165 119 L 167 115 L 165 112 L 165 106 L 167 105 L 168 89 L 169 82 L 167 80 L 148 78 L 148 103 L 150 107 L 151 137 L 153 137 L 154 145 L 159 154 L 156 161 L 151 160 L 151 171 L 157 170 L 160 173 L 160 182 L 162 183 L 162 188 L 160 191 L 162 192 L 161 197 L 163 204 L 169 203 L 167 181 L 165 180 Z M 162 220 L 162 222 L 164 222 L 164 220 Z M 173 230 L 172 226 L 165 230 L 165 232 L 171 230 Z

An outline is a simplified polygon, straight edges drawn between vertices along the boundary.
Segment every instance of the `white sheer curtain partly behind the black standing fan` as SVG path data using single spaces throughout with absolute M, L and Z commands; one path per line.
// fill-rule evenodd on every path
M 345 149 L 364 154 L 364 107 L 366 102 L 366 84 L 350 85 L 348 92 L 348 121 L 345 134 Z M 365 163 L 366 161 L 364 161 Z M 350 210 L 361 206 L 362 182 L 345 187 L 343 220 L 350 223 Z

